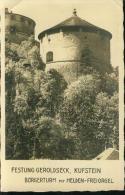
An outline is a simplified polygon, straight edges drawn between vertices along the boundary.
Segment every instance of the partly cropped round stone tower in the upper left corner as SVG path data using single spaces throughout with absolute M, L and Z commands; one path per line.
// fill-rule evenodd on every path
M 5 11 L 5 32 L 6 40 L 13 43 L 20 43 L 27 40 L 29 36 L 34 36 L 35 22 L 19 14 Z

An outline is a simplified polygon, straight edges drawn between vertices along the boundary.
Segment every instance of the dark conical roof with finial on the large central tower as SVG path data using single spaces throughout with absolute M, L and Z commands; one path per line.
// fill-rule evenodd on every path
M 76 9 L 74 9 L 73 11 L 73 15 L 72 17 L 64 20 L 63 22 L 57 24 L 56 26 L 52 27 L 52 28 L 49 28 L 43 32 L 41 32 L 38 36 L 38 38 L 42 38 L 46 33 L 54 33 L 56 32 L 57 30 L 59 29 L 62 29 L 62 30 L 65 30 L 65 29 L 73 29 L 73 28 L 76 28 L 77 27 L 81 27 L 83 29 L 83 31 L 100 31 L 106 35 L 108 35 L 110 38 L 112 37 L 111 33 L 100 28 L 100 27 L 97 27 L 83 19 L 81 19 L 80 17 L 77 16 L 77 12 L 76 12 Z

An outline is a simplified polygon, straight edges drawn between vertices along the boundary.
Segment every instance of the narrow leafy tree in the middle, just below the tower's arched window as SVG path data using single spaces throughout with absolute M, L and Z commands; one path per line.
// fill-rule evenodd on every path
M 66 87 L 66 81 L 56 70 L 51 69 L 46 74 L 44 73 L 40 80 L 40 101 L 36 107 L 37 111 L 41 115 L 55 117 Z

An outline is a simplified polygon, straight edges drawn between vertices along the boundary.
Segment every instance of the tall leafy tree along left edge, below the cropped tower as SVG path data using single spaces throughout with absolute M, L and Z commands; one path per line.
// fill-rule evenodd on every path
M 6 158 L 29 159 L 34 133 L 32 121 L 38 102 L 32 78 L 35 70 L 42 69 L 43 64 L 32 38 L 20 45 L 7 42 L 5 51 Z

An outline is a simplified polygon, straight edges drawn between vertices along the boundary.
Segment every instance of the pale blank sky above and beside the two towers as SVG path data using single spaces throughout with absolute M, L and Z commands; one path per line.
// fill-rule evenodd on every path
M 72 16 L 77 15 L 112 33 L 111 64 L 123 64 L 122 0 L 5 0 L 13 12 L 32 18 L 38 34 Z M 12 3 L 10 4 L 10 2 Z

